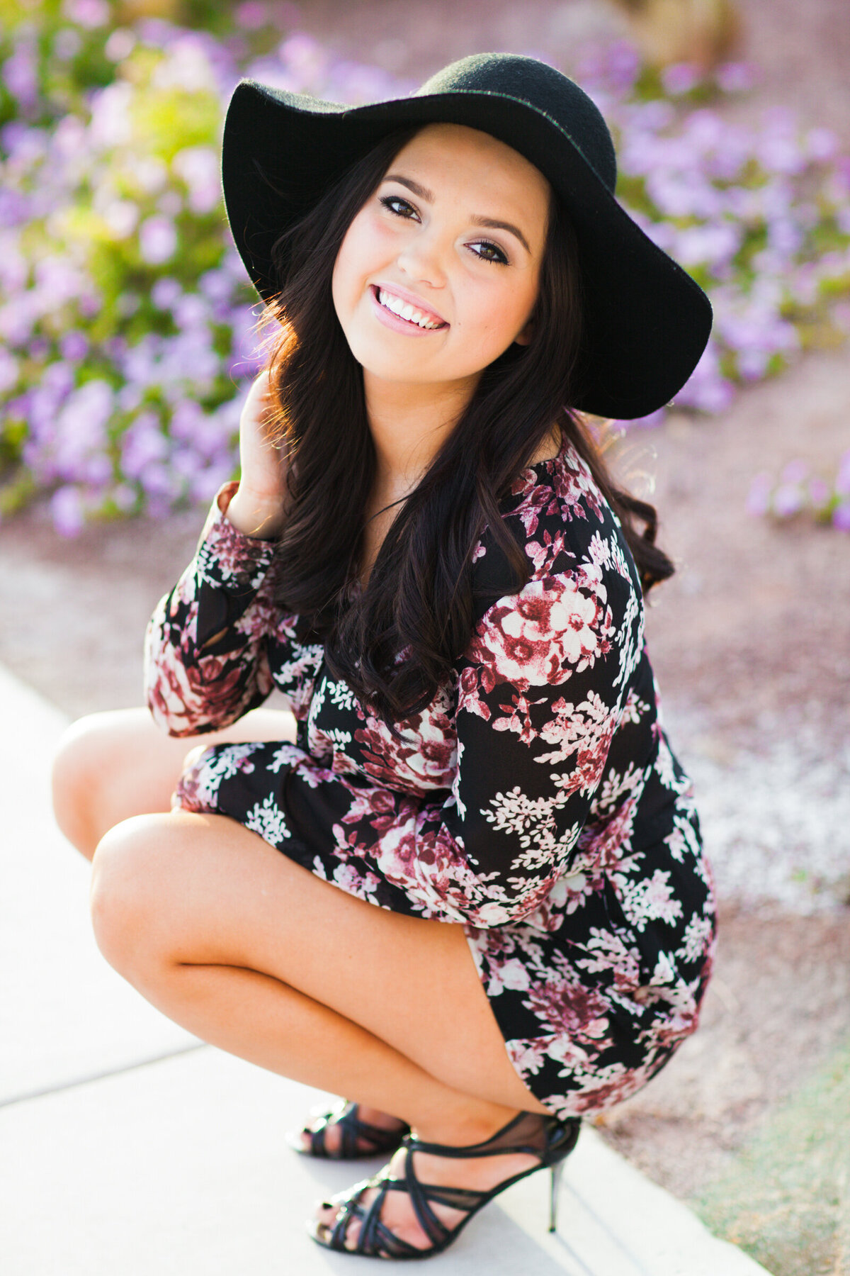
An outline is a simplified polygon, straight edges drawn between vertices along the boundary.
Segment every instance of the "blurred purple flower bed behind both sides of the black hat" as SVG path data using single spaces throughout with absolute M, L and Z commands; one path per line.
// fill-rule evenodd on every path
M 198 31 L 116 26 L 107 0 L 0 0 L 0 513 L 43 495 L 73 535 L 206 501 L 233 473 L 260 308 L 220 202 L 224 103 L 241 75 L 347 102 L 413 87 L 271 11 L 246 0 Z M 831 134 L 779 108 L 730 122 L 739 64 L 661 79 L 617 45 L 567 69 L 617 134 L 623 203 L 715 306 L 678 407 L 719 412 L 842 339 L 850 161 Z

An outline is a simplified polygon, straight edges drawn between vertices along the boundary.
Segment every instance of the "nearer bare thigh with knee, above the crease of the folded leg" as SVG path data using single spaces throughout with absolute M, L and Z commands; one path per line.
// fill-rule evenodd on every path
M 115 829 L 96 878 L 102 852 L 104 877 L 127 882 L 141 910 L 116 926 L 159 962 L 273 975 L 443 1083 L 544 1111 L 507 1057 L 461 925 L 358 900 L 220 815 L 173 812 Z

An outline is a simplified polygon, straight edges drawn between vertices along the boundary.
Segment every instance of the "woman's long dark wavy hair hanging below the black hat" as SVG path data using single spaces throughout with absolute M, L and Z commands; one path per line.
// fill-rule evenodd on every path
M 567 406 L 577 393 L 581 278 L 572 227 L 553 202 L 530 343 L 512 345 L 484 369 L 400 507 L 366 588 L 352 588 L 376 461 L 362 369 L 336 319 L 331 276 L 350 222 L 415 131 L 385 138 L 280 236 L 273 259 L 285 285 L 264 315 L 277 333 L 269 351 L 273 430 L 289 461 L 278 601 L 301 616 L 303 639 L 325 643 L 333 676 L 391 727 L 433 699 L 469 644 L 472 554 L 484 528 L 505 553 L 515 590 L 530 578 L 500 500 L 553 424 L 618 516 L 644 591 L 673 573 L 655 545 L 655 509 L 614 485 L 594 436 Z

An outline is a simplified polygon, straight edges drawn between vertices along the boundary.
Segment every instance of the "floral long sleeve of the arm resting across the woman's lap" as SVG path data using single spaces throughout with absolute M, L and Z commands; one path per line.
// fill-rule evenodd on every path
M 454 685 L 400 740 L 325 676 L 298 745 L 209 749 L 178 800 L 396 911 L 477 928 L 540 915 L 570 870 L 640 657 L 635 569 L 612 544 L 589 527 L 572 549 L 549 538 L 535 577 L 487 609 Z

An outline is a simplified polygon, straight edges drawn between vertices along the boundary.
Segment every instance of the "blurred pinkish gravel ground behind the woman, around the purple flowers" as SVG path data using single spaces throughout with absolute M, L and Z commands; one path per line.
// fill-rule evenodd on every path
M 740 0 L 763 69 L 756 106 L 789 102 L 850 140 L 846 0 Z M 544 50 L 621 19 L 587 0 L 450 5 L 311 0 L 303 26 L 350 56 L 423 78 L 483 48 Z M 850 441 L 846 352 L 808 356 L 723 417 L 633 433 L 616 466 L 654 491 L 678 573 L 649 610 L 673 745 L 697 785 L 724 900 L 703 1026 L 607 1122 L 689 1196 L 850 1030 L 850 538 L 744 512 L 752 475 Z M 0 661 L 71 716 L 140 702 L 140 641 L 191 556 L 203 513 L 59 541 L 40 512 L 0 526 Z

